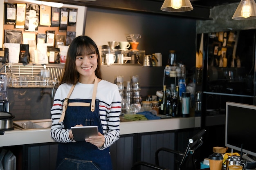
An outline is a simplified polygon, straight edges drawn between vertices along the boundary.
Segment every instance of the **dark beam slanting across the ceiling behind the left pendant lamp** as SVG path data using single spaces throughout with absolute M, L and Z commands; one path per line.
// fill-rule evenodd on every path
M 161 11 L 163 2 L 152 0 L 97 0 L 91 2 L 79 2 L 74 0 L 46 0 L 65 4 L 81 5 L 102 9 L 117 9 L 141 13 L 153 13 L 157 15 L 170 15 L 174 17 L 191 18 L 196 20 L 211 20 L 210 8 L 194 6 L 192 11 L 165 12 Z

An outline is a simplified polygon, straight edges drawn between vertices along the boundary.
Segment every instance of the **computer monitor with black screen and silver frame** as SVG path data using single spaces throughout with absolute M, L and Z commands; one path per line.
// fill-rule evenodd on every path
M 225 126 L 225 146 L 256 157 L 256 106 L 227 102 Z

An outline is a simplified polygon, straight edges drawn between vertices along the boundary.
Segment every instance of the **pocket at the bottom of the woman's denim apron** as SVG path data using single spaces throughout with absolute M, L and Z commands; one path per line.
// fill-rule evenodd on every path
M 56 170 L 101 170 L 92 161 L 65 158 Z

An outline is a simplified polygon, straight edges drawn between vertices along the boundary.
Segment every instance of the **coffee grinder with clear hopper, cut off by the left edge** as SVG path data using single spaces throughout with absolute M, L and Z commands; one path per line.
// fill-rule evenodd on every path
M 7 98 L 8 76 L 0 73 L 0 112 L 9 112 L 9 101 Z

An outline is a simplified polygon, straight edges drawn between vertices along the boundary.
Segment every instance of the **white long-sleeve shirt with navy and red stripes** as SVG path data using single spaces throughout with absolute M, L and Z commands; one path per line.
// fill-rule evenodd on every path
M 74 142 L 74 139 L 69 138 L 70 129 L 65 129 L 63 122 L 58 122 L 61 118 L 63 101 L 67 97 L 71 86 L 71 84 L 61 84 L 54 96 L 51 109 L 51 137 L 56 142 Z M 93 87 L 94 84 L 78 82 L 70 95 L 70 99 L 92 99 Z M 101 80 L 98 83 L 96 99 L 99 99 L 99 114 L 105 137 L 105 143 L 99 149 L 103 150 L 114 144 L 120 135 L 121 97 L 117 85 Z

